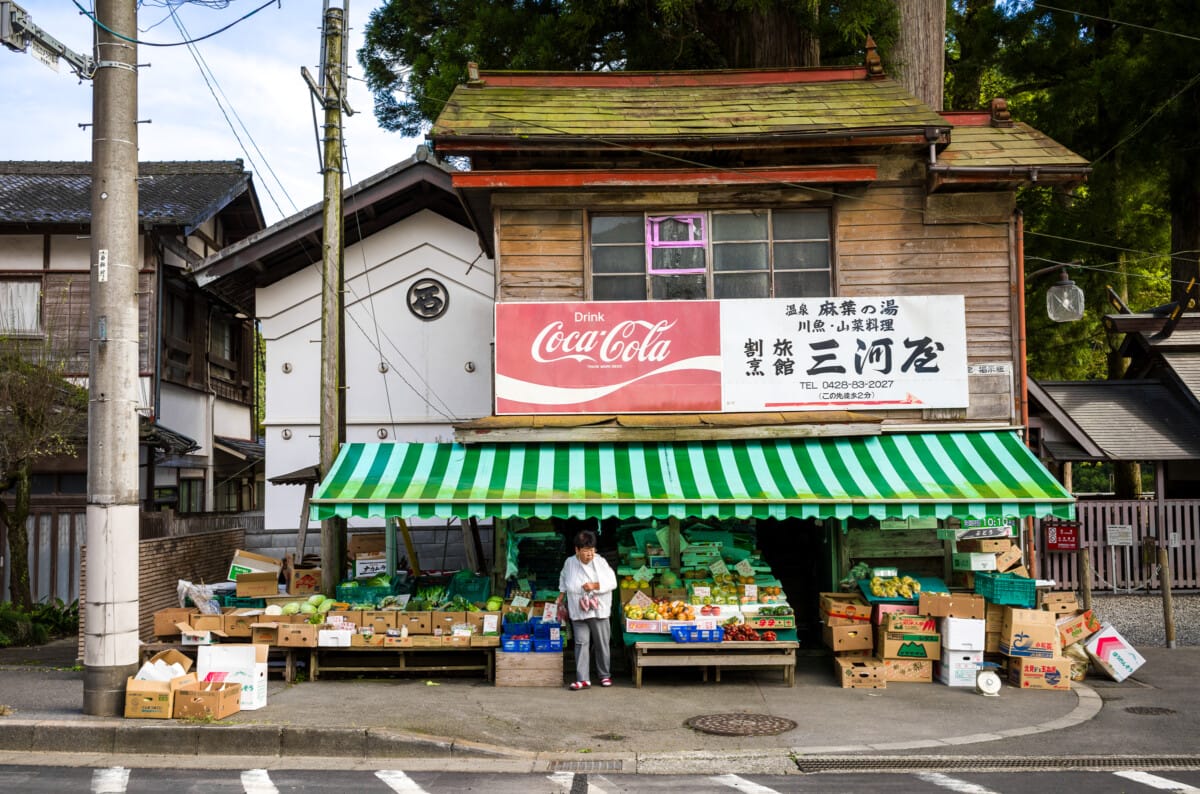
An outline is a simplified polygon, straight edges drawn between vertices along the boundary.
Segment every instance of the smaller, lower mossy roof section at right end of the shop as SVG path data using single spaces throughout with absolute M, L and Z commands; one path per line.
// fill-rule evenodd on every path
M 1085 158 L 1020 121 L 1010 127 L 955 125 L 950 145 L 938 152 L 937 161 L 950 167 L 1087 166 Z

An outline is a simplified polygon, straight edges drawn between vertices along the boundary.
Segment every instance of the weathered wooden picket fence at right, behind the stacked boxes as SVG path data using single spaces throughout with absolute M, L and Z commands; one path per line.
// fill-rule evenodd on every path
M 1200 588 L 1200 499 L 1081 499 L 1075 505 L 1079 546 L 1092 564 L 1092 589 L 1158 590 L 1158 546 L 1166 547 L 1171 587 Z M 1110 527 L 1129 527 L 1132 546 L 1109 543 Z M 1163 531 L 1159 533 L 1158 528 Z M 1045 530 L 1038 536 L 1038 576 L 1061 587 L 1080 587 L 1079 554 L 1045 548 Z

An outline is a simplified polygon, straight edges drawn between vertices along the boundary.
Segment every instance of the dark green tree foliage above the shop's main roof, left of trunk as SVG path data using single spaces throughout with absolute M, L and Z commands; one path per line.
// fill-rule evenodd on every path
M 388 0 L 358 52 L 385 130 L 421 133 L 467 64 L 484 70 L 612 71 L 815 66 L 887 52 L 890 0 Z M 766 62 L 764 62 L 766 61 Z

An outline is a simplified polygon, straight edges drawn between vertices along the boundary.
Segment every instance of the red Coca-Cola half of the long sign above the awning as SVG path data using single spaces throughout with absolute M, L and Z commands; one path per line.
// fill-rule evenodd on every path
M 497 303 L 496 413 L 721 410 L 715 301 Z

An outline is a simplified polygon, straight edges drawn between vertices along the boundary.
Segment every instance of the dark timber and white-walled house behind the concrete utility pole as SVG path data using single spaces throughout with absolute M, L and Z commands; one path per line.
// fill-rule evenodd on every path
M 263 228 L 251 174 L 241 161 L 146 162 L 138 186 L 142 510 L 252 510 L 262 474 L 253 326 L 191 279 L 203 257 Z M 0 163 L 0 336 L 48 345 L 82 385 L 90 224 L 90 163 Z M 86 458 L 83 443 L 77 458 L 35 476 L 35 597 L 77 594 Z

